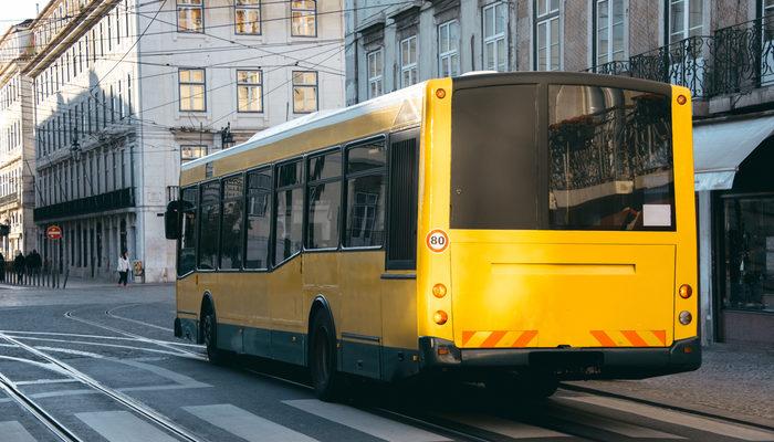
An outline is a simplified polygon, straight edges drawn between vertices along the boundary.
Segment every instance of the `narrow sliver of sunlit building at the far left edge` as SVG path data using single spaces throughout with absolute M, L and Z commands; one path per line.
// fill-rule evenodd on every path
M 6 260 L 36 248 L 32 87 L 21 74 L 30 57 L 30 23 L 0 36 L 0 252 Z

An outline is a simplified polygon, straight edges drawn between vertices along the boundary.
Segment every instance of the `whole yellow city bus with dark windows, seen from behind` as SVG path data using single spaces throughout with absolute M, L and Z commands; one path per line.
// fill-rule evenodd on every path
M 355 375 L 697 369 L 690 92 L 582 73 L 430 80 L 187 162 L 175 335 Z

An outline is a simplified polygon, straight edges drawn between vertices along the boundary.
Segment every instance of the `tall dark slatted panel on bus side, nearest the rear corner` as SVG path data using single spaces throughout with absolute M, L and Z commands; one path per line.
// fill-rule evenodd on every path
M 418 130 L 390 135 L 388 270 L 417 267 Z

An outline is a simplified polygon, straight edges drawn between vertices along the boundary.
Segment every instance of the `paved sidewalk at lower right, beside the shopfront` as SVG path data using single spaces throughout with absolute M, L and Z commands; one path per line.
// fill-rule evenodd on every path
M 713 344 L 697 371 L 566 383 L 774 428 L 774 349 Z

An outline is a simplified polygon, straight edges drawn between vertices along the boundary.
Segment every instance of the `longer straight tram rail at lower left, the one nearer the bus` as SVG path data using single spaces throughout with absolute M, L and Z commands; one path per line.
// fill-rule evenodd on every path
M 108 398 L 113 399 L 114 401 L 121 403 L 125 408 L 134 411 L 135 413 L 142 415 L 143 418 L 149 420 L 150 422 L 155 423 L 156 425 L 165 429 L 169 433 L 185 440 L 188 442 L 209 442 L 207 439 L 202 439 L 190 431 L 188 431 L 186 428 L 178 425 L 177 423 L 172 422 L 169 420 L 166 415 L 161 414 L 160 412 L 156 411 L 155 409 L 146 406 L 143 402 L 139 402 L 135 400 L 134 398 L 122 393 L 121 391 L 117 391 L 115 389 L 112 389 L 102 382 L 97 381 L 96 379 L 92 378 L 91 376 L 80 371 L 79 369 L 70 366 L 69 364 L 44 352 L 41 351 L 32 346 L 29 346 L 11 336 L 8 336 L 3 333 L 0 333 L 0 338 L 7 340 L 8 343 L 15 344 L 19 348 L 22 348 L 35 356 L 38 356 L 41 359 L 45 359 L 55 367 L 62 369 L 67 373 L 67 376 L 72 377 L 73 379 L 80 381 L 81 383 L 103 393 L 104 396 L 107 396 Z M 3 382 L 4 387 L 6 383 Z M 12 383 L 11 383 L 12 386 Z M 63 439 L 64 441 L 71 441 L 70 439 Z M 74 441 L 81 441 L 80 439 L 74 439 Z

